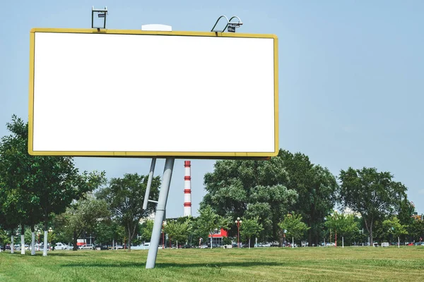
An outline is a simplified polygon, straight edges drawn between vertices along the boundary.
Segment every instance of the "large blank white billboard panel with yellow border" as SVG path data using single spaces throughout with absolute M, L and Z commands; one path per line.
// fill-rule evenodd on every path
M 275 35 L 35 28 L 32 155 L 272 157 Z

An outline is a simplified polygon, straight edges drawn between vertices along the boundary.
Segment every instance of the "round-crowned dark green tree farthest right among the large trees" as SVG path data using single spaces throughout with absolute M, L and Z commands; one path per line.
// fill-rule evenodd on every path
M 393 180 L 389 172 L 378 172 L 377 168 L 341 170 L 340 202 L 361 214 L 373 245 L 372 228 L 377 219 L 389 216 L 399 208 L 406 197 L 406 187 Z

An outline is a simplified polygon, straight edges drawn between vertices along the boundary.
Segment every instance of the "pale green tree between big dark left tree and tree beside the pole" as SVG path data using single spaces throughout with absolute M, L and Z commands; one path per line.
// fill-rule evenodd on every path
M 77 239 L 83 232 L 93 232 L 100 221 L 109 216 L 105 200 L 97 200 L 93 195 L 88 195 L 66 209 L 66 212 L 57 216 L 55 221 L 61 223 L 61 228 L 71 232 L 73 250 L 77 250 Z

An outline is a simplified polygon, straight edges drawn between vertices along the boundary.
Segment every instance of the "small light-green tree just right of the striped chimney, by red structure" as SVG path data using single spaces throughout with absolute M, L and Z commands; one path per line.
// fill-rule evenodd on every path
M 211 236 L 212 249 L 212 237 L 214 231 L 219 228 L 226 228 L 229 225 L 229 221 L 227 219 L 224 219 L 223 216 L 220 216 L 213 212 L 211 206 L 206 206 L 199 209 L 199 214 L 200 215 L 196 221 L 196 228 L 198 228 L 201 233 L 208 234 Z

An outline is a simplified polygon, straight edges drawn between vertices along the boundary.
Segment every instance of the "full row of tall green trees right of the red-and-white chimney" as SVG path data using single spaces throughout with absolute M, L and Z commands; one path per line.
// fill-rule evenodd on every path
M 288 214 L 302 217 L 310 246 L 334 238 L 337 229 L 339 235 L 355 236 L 365 229 L 372 245 L 375 228 L 382 239 L 382 223 L 394 220 L 395 215 L 404 228 L 409 228 L 399 233 L 405 240 L 419 240 L 424 235 L 422 221 L 413 217 L 415 209 L 407 199 L 405 185 L 396 182 L 391 173 L 376 168 L 348 168 L 336 177 L 327 168 L 312 164 L 305 154 L 281 149 L 270 161 L 217 161 L 214 171 L 206 173 L 204 184 L 206 195 L 201 207 L 211 206 L 214 212 L 232 220 L 259 219 L 264 228 L 262 242 L 282 242 L 285 234 L 280 223 Z M 356 227 L 342 231 L 331 226 L 331 214 L 338 221 L 344 219 L 334 214 L 335 207 L 350 209 L 357 215 Z M 234 229 L 231 235 L 235 235 Z

